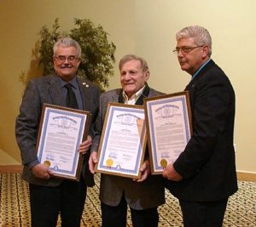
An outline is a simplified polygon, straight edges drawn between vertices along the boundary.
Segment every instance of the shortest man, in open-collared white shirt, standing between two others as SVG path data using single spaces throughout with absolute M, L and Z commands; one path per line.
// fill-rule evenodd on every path
M 96 119 L 99 134 L 93 140 L 89 160 L 92 173 L 94 173 L 94 164 L 98 161 L 97 149 L 108 103 L 143 105 L 143 98 L 160 95 L 160 92 L 148 87 L 148 65 L 142 58 L 131 54 L 125 55 L 119 62 L 119 71 L 122 88 L 103 93 L 100 97 L 100 112 Z M 160 175 L 150 175 L 147 155 L 140 171 L 142 178 L 137 181 L 102 173 L 100 200 L 103 227 L 125 227 L 127 204 L 131 208 L 134 227 L 158 226 L 157 207 L 165 202 L 163 178 Z

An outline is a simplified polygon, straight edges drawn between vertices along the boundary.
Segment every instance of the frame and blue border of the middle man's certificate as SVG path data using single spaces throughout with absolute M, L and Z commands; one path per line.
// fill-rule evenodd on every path
M 96 172 L 99 173 L 108 173 L 113 175 L 120 175 L 123 177 L 133 178 L 133 179 L 139 179 L 140 178 L 140 172 L 139 169 L 141 167 L 141 164 L 143 162 L 143 156 L 145 151 L 145 143 L 146 143 L 146 123 L 143 121 L 143 130 L 141 134 L 140 141 L 143 141 L 143 143 L 140 143 L 137 147 L 137 161 L 136 161 L 136 167 L 135 169 L 129 170 L 125 168 L 118 168 L 118 167 L 108 167 L 107 165 L 104 165 L 104 156 L 106 154 L 106 149 L 108 146 L 108 138 L 111 130 L 111 123 L 113 121 L 113 114 L 114 111 L 123 111 L 124 113 L 143 113 L 144 109 L 143 106 L 139 105 L 123 105 L 119 103 L 108 103 L 108 111 L 105 116 L 104 121 L 104 127 L 102 131 L 102 138 L 101 143 L 99 146 L 99 153 L 100 158 L 99 162 L 96 165 Z M 144 120 L 144 119 L 143 119 Z

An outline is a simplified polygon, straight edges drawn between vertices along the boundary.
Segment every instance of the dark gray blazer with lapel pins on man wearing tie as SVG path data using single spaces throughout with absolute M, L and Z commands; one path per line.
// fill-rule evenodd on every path
M 90 111 L 91 122 L 94 122 L 98 111 L 98 88 L 92 82 L 78 81 L 82 94 L 83 110 Z M 16 139 L 24 165 L 22 178 L 31 184 L 56 186 L 61 184 L 61 179 L 38 179 L 29 168 L 30 163 L 38 160 L 36 139 L 44 103 L 66 106 L 66 99 L 61 91 L 61 81 L 56 75 L 40 77 L 28 83 L 20 105 L 20 115 L 16 120 Z

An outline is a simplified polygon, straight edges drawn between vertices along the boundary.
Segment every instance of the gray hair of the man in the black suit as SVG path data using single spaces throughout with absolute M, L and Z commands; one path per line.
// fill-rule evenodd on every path
M 176 34 L 177 41 L 182 38 L 194 38 L 198 46 L 207 45 L 209 47 L 208 56 L 212 54 L 212 37 L 206 28 L 202 26 L 188 26 L 178 31 Z

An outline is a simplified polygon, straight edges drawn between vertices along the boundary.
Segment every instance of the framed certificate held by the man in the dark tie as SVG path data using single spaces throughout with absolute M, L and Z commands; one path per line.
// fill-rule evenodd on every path
M 54 177 L 79 180 L 83 155 L 79 145 L 87 138 L 90 113 L 44 104 L 37 140 L 38 160 Z

